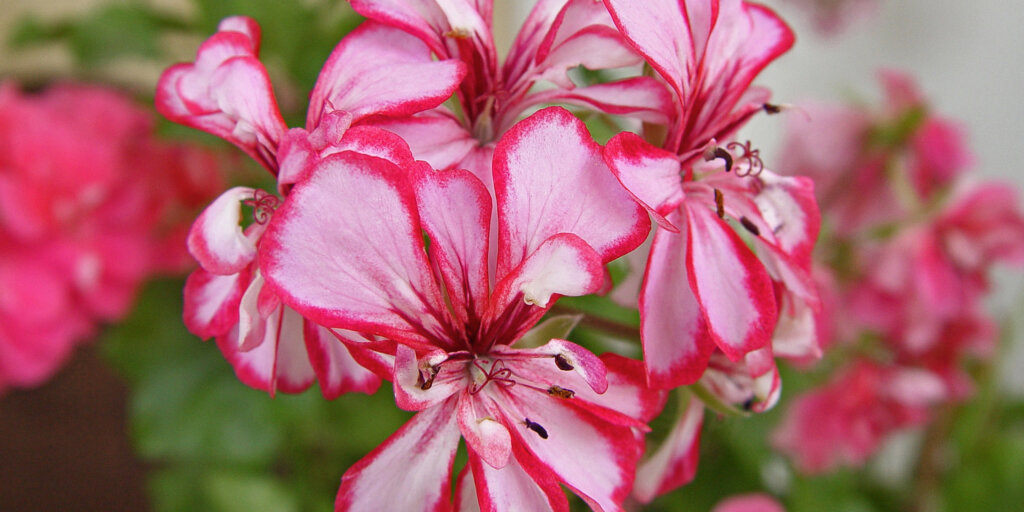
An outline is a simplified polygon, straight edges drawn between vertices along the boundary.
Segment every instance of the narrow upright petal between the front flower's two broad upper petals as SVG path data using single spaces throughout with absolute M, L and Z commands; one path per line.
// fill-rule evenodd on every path
M 464 324 L 470 315 L 479 321 L 490 294 L 490 195 L 469 171 L 427 168 L 413 179 L 430 258 L 440 270 L 455 315 Z

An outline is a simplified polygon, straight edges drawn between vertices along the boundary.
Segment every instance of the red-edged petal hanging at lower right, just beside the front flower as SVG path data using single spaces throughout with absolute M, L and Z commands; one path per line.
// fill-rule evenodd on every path
M 643 503 L 685 485 L 696 476 L 700 455 L 703 402 L 690 396 L 681 408 L 672 431 L 647 460 L 637 468 L 633 495 Z

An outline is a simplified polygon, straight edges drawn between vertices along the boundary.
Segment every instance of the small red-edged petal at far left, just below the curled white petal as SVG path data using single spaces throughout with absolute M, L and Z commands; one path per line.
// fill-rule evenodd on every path
M 239 303 L 248 287 L 248 269 L 217 275 L 197 268 L 185 281 L 185 327 L 203 339 L 227 334 L 239 323 Z

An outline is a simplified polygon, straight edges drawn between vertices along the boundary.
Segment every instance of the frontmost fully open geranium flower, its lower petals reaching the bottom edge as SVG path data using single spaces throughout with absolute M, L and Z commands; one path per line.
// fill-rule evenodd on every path
M 493 168 L 497 244 L 473 173 L 352 153 L 323 161 L 267 228 L 267 283 L 393 354 L 398 406 L 419 411 L 345 473 L 338 510 L 449 509 L 460 435 L 462 508 L 568 510 L 563 483 L 621 510 L 630 492 L 662 398 L 639 365 L 548 337 L 515 344 L 558 296 L 601 289 L 603 264 L 643 241 L 647 216 L 562 109 L 513 127 Z

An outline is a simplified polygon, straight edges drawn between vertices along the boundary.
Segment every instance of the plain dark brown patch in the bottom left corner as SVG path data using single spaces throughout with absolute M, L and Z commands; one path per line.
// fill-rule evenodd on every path
M 93 347 L 43 386 L 0 397 L 0 510 L 146 510 L 126 401 Z

